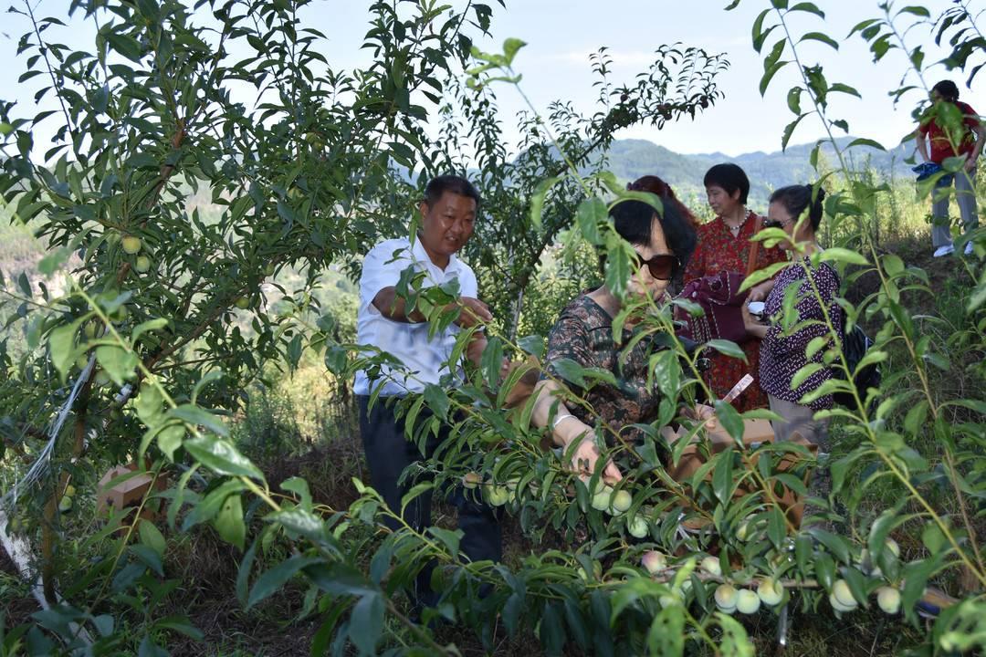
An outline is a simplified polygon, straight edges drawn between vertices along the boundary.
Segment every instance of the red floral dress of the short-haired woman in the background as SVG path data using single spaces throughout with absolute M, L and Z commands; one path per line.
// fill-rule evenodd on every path
M 757 216 L 748 211 L 737 235 L 733 234 L 722 217 L 716 217 L 708 224 L 699 226 L 698 243 L 684 271 L 685 283 L 721 271 L 745 273 L 746 260 L 749 258 L 749 238 L 753 235 L 756 220 Z M 757 269 L 785 260 L 787 256 L 781 249 L 776 246 L 766 248 L 760 244 L 756 257 Z M 722 399 L 743 375 L 752 374 L 753 384 L 743 391 L 733 405 L 740 412 L 767 408 L 767 395 L 760 389 L 759 381 L 760 341 L 751 337 L 740 343 L 740 348 L 746 355 L 748 364 L 716 352 L 711 359 L 712 366 L 706 370 L 706 382 L 716 397 Z

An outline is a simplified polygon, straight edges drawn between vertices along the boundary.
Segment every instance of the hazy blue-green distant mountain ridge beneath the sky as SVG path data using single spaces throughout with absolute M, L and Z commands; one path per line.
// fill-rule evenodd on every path
M 845 148 L 855 139 L 837 140 Z M 740 164 L 750 179 L 750 200 L 756 206 L 766 203 L 770 192 L 785 185 L 810 182 L 815 177 L 811 168 L 810 153 L 814 144 L 789 146 L 787 151 L 773 153 L 744 153 L 735 158 L 722 153 L 682 155 L 663 146 L 642 139 L 623 139 L 613 142 L 609 149 L 609 170 L 622 180 L 633 180 L 648 173 L 667 180 L 682 199 L 692 196 L 704 198 L 702 177 L 713 164 L 732 162 Z M 846 151 L 853 168 L 872 167 L 883 176 L 909 178 L 914 174 L 904 160 L 913 155 L 914 148 L 898 146 L 891 151 L 880 151 L 868 146 L 854 146 Z M 836 163 L 830 145 L 821 149 L 822 161 L 830 166 Z

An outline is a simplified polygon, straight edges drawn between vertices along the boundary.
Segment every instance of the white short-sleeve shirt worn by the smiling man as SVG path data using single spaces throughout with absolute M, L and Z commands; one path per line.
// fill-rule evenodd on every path
M 426 274 L 425 286 L 440 286 L 458 279 L 460 296 L 477 296 L 476 275 L 455 255 L 443 270 L 428 257 L 421 240 L 414 244 L 406 237 L 387 239 L 374 246 L 363 260 L 360 276 L 360 307 L 356 313 L 356 336 L 360 345 L 378 347 L 404 363 L 408 372 L 384 369 L 387 382 L 381 391 L 383 396 L 406 395 L 421 392 L 427 383 L 438 383 L 449 372 L 446 361 L 456 346 L 458 326 L 452 324 L 441 333 L 428 337 L 428 323 L 395 322 L 387 319 L 373 299 L 384 288 L 396 287 L 400 274 L 408 267 Z M 353 392 L 369 395 L 373 381 L 365 371 L 356 372 Z

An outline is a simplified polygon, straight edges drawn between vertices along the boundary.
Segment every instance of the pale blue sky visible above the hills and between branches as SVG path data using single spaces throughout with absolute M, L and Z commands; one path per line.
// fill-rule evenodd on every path
M 528 46 L 515 62 L 524 75 L 525 92 L 538 109 L 544 109 L 553 99 L 570 99 L 578 107 L 593 110 L 596 90 L 592 87 L 589 53 L 600 45 L 610 48 L 614 60 L 612 80 L 631 82 L 634 75 L 652 61 L 651 53 L 661 43 L 681 41 L 704 47 L 710 52 L 725 52 L 731 62 L 730 70 L 720 79 L 720 89 L 726 99 L 701 114 L 695 121 L 680 121 L 657 130 L 640 126 L 623 131 L 621 138 L 648 139 L 680 153 L 709 153 L 719 151 L 739 155 L 751 151 L 774 151 L 780 148 L 784 126 L 793 118 L 785 101 L 788 88 L 795 82 L 796 70 L 789 66 L 775 78 L 765 98 L 757 85 L 762 72 L 762 59 L 750 45 L 750 28 L 759 11 L 769 5 L 767 0 L 742 0 L 733 12 L 725 12 L 727 0 L 508 0 L 507 9 L 496 0 L 485 0 L 494 7 L 492 38 L 480 45 L 483 49 L 498 50 L 508 36 L 522 38 Z M 67 3 L 64 0 L 41 0 L 38 16 L 58 15 Z M 326 33 L 328 42 L 323 53 L 336 67 L 352 67 L 365 63 L 369 52 L 359 45 L 366 32 L 369 0 L 324 0 L 306 10 L 306 22 Z M 461 0 L 452 0 L 462 6 Z M 891 52 L 880 64 L 874 64 L 867 45 L 854 36 L 846 39 L 852 26 L 866 18 L 880 15 L 878 0 L 816 0 L 826 12 L 824 22 L 804 15 L 793 22 L 794 33 L 821 31 L 840 42 L 836 52 L 827 46 L 807 43 L 800 50 L 808 64 L 822 63 L 829 82 L 839 81 L 856 87 L 863 99 L 839 97 L 831 103 L 832 114 L 845 118 L 851 132 L 857 136 L 876 139 L 886 146 L 895 145 L 911 129 L 910 110 L 918 96 L 905 97 L 896 107 L 887 92 L 895 88 L 906 71 L 904 56 Z M 898 2 L 898 6 L 906 3 Z M 948 0 L 925 3 L 933 10 L 947 7 Z M 971 0 L 974 11 L 986 9 L 986 0 Z M 15 2 L 22 7 L 22 2 Z M 29 28 L 20 17 L 5 14 L 0 28 L 0 56 L 7 65 L 0 68 L 0 98 L 18 99 L 31 104 L 33 94 L 19 86 L 17 78 L 23 64 L 16 60 L 17 39 Z M 91 24 L 78 21 L 68 29 L 49 31 L 58 40 L 75 47 L 92 42 Z M 934 43 L 925 32 L 909 34 L 914 45 L 929 49 L 927 61 L 941 58 Z M 773 39 L 768 41 L 768 46 Z M 926 80 L 933 84 L 950 76 L 942 67 L 932 67 Z M 915 79 L 909 79 L 915 82 Z M 986 113 L 986 72 L 979 77 L 972 91 L 963 88 L 962 98 L 974 108 Z M 517 93 L 509 88 L 497 91 L 504 123 L 523 107 Z M 805 119 L 792 143 L 805 143 L 822 135 L 816 118 Z

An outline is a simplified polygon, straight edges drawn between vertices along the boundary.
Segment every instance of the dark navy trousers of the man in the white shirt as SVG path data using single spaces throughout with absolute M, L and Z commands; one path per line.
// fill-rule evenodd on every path
M 377 400 L 369 409 L 370 398 L 357 395 L 360 405 L 360 434 L 363 450 L 370 468 L 370 483 L 384 497 L 387 506 L 395 513 L 400 512 L 400 500 L 415 483 L 408 481 L 398 485 L 401 473 L 407 466 L 429 458 L 435 449 L 449 435 L 449 427 L 443 426 L 438 437 L 431 436 L 425 447 L 425 454 L 418 446 L 404 437 L 404 420 L 396 418 L 393 407 L 387 399 Z M 424 419 L 425 412 L 419 416 Z M 490 506 L 466 498 L 461 486 L 450 492 L 450 501 L 458 508 L 458 528 L 462 530 L 459 552 L 471 560 L 490 559 L 499 561 L 503 557 L 503 537 L 499 514 Z M 422 530 L 431 526 L 432 494 L 424 493 L 415 497 L 404 509 L 403 518 L 411 527 Z M 399 527 L 393 518 L 387 518 L 391 529 Z M 417 577 L 415 584 L 415 603 L 433 607 L 438 603 L 439 594 L 431 589 L 431 573 L 434 563 L 428 564 Z

